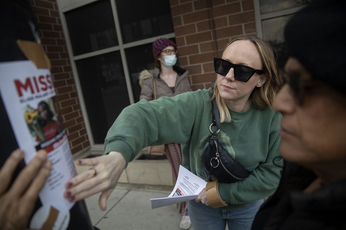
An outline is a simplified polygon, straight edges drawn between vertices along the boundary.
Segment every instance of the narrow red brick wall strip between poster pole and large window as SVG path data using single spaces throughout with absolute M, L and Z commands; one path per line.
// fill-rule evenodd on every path
M 30 0 L 38 35 L 51 61 L 52 77 L 72 154 L 90 146 L 56 0 Z

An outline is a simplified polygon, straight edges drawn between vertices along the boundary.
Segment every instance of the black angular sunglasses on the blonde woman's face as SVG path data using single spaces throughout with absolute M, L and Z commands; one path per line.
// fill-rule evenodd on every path
M 220 74 L 222 76 L 226 76 L 228 71 L 231 68 L 234 68 L 234 78 L 240 82 L 247 82 L 255 73 L 257 73 L 258 75 L 264 73 L 264 71 L 260 69 L 254 69 L 248 66 L 233 64 L 221 58 L 213 58 L 215 73 Z

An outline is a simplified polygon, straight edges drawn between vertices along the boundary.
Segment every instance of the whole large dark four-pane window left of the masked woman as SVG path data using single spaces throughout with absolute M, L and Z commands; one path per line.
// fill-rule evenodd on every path
M 122 109 L 139 100 L 139 72 L 154 63 L 152 42 L 158 37 L 175 41 L 170 2 L 81 0 L 79 7 L 71 3 L 67 9 L 63 13 L 91 145 L 103 144 Z

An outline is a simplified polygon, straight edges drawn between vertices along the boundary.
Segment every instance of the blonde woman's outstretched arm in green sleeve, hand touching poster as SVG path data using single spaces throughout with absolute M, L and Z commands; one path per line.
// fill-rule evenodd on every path
M 64 196 L 70 201 L 78 201 L 102 192 L 99 204 L 105 210 L 107 198 L 122 171 L 142 148 L 169 142 L 185 143 L 189 140 L 195 104 L 191 94 L 188 97 L 178 95 L 151 102 L 141 100 L 126 107 L 108 131 L 105 140 L 106 155 L 76 161 L 76 164 L 89 165 L 95 171 L 88 170 L 68 181 Z M 187 109 L 192 112 L 185 113 Z M 180 121 L 179 127 L 176 121 Z

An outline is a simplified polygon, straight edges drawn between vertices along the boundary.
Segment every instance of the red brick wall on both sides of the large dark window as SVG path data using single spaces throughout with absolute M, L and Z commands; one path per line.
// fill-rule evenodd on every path
M 30 0 L 38 34 L 52 64 L 56 98 L 72 153 L 90 146 L 56 0 Z M 216 74 L 212 57 L 239 35 L 255 32 L 253 0 L 170 0 L 180 65 L 193 90 L 209 88 Z

